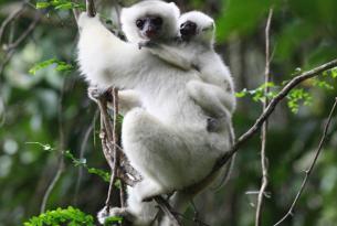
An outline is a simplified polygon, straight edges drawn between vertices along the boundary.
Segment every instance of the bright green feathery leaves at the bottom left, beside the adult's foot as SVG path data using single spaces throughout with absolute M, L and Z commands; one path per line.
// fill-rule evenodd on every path
M 46 226 L 46 225 L 67 225 L 67 226 L 94 226 L 94 217 L 82 211 L 69 206 L 65 209 L 56 208 L 48 211 L 39 216 L 34 216 L 24 226 Z

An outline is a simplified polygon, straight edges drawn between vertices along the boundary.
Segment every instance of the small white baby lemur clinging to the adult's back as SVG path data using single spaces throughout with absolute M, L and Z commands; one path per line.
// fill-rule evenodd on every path
M 152 54 L 182 69 L 199 71 L 202 80 L 187 84 L 190 96 L 210 116 L 218 119 L 231 117 L 236 105 L 233 79 L 213 49 L 213 19 L 199 11 L 187 12 L 180 17 L 179 28 L 180 40 L 141 41 L 139 45 L 149 47 Z

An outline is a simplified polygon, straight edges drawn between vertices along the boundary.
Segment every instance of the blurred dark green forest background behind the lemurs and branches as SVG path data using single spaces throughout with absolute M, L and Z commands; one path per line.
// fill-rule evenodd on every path
M 110 17 L 115 1 L 96 1 L 98 11 Z M 128 1 L 122 1 L 129 4 Z M 217 51 L 230 66 L 236 92 L 263 84 L 264 30 L 274 8 L 271 29 L 271 72 L 277 85 L 337 56 L 336 0 L 177 0 L 182 11 L 198 9 L 215 18 Z M 18 10 L 21 1 L 0 1 L 0 24 Z M 40 213 L 43 196 L 61 164 L 62 173 L 46 208 L 73 205 L 95 215 L 104 205 L 107 183 L 96 175 L 61 161 L 60 150 L 85 158 L 89 166 L 108 170 L 101 152 L 97 109 L 86 95 L 77 72 L 77 28 L 72 11 L 35 9 L 30 1 L 0 37 L 0 226 L 21 225 Z M 36 14 L 41 19 L 15 49 L 8 51 Z M 9 57 L 10 56 L 10 57 Z M 57 72 L 51 65 L 35 75 L 35 63 L 56 58 L 75 65 Z M 336 79 L 302 85 L 309 105 L 299 101 L 292 112 L 282 103 L 271 117 L 267 140 L 270 185 L 263 225 L 276 223 L 286 213 L 299 189 L 320 139 L 324 119 L 337 96 Z M 236 136 L 261 114 L 262 105 L 250 96 L 238 99 Z M 293 217 L 283 225 L 333 226 L 337 224 L 337 120 L 333 120 L 324 152 Z M 40 144 L 39 144 L 40 143 Z M 42 147 L 49 144 L 52 147 Z M 232 180 L 220 190 L 208 190 L 196 198 L 200 218 L 212 226 L 254 224 L 256 191 L 261 184 L 259 136 L 239 152 Z M 192 211 L 187 213 L 192 218 Z M 193 225 L 186 222 L 185 225 Z

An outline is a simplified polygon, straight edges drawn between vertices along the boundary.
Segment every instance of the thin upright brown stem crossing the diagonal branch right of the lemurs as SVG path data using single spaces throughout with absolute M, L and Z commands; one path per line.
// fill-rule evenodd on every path
M 270 93 L 268 83 L 271 82 L 271 73 L 270 73 L 270 63 L 271 63 L 271 51 L 270 51 L 270 30 L 271 22 L 273 17 L 273 8 L 270 9 L 266 26 L 265 26 L 265 71 L 264 71 L 264 101 L 263 101 L 263 111 L 265 111 L 268 106 L 267 95 Z M 260 187 L 260 192 L 257 195 L 257 206 L 255 214 L 255 226 L 261 226 L 262 224 L 262 208 L 263 208 L 263 197 L 268 184 L 268 166 L 267 166 L 267 158 L 266 158 L 266 137 L 267 137 L 267 120 L 262 126 L 261 132 L 261 166 L 262 166 L 262 184 Z

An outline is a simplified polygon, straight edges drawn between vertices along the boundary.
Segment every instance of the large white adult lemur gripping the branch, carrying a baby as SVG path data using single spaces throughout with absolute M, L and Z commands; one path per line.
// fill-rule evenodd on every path
M 139 10 L 131 7 L 123 12 L 128 13 L 137 35 L 177 36 L 179 10 L 175 4 L 139 4 Z M 146 19 L 144 25 L 137 25 L 139 18 Z M 189 82 L 201 80 L 199 74 L 170 66 L 149 50 L 120 41 L 97 18 L 84 13 L 78 25 L 78 62 L 86 79 L 102 88 L 135 89 L 144 107 L 126 114 L 122 131 L 125 153 L 144 176 L 133 189 L 133 198 L 168 194 L 204 179 L 229 149 L 230 131 L 207 131 L 208 116 L 187 88 Z

